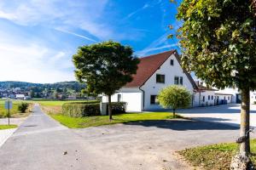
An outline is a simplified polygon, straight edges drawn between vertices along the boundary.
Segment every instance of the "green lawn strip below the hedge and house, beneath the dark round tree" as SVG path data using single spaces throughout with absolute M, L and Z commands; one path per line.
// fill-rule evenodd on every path
M 173 118 L 172 114 L 167 112 L 121 114 L 113 116 L 113 121 L 111 122 L 109 121 L 108 116 L 86 116 L 82 118 L 54 114 L 51 114 L 50 116 L 52 116 L 56 121 L 61 122 L 61 124 L 69 128 L 96 127 L 115 123 L 165 120 Z

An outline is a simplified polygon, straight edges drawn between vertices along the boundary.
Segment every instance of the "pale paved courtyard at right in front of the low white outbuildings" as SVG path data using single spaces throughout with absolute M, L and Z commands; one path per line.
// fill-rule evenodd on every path
M 178 110 L 182 116 L 207 122 L 224 122 L 230 125 L 240 126 L 240 109 L 237 104 L 198 107 Z M 256 105 L 250 105 L 250 124 L 256 127 Z

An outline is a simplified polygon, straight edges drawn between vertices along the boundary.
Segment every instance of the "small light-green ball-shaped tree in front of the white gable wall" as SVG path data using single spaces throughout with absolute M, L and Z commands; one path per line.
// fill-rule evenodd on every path
M 157 96 L 160 105 L 166 109 L 172 109 L 173 116 L 175 111 L 181 108 L 187 108 L 191 105 L 191 94 L 183 86 L 172 85 L 160 90 Z

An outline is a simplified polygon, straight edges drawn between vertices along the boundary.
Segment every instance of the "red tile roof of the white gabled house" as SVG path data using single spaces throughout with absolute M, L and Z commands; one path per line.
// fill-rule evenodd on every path
M 177 60 L 180 62 L 176 50 L 166 51 L 164 53 L 153 54 L 141 58 L 141 62 L 138 65 L 137 74 L 133 76 L 132 82 L 128 82 L 125 85 L 125 88 L 136 88 L 143 86 L 143 84 L 148 81 L 148 78 L 150 78 L 154 72 L 159 69 L 160 65 L 163 65 L 166 59 L 168 59 L 172 54 L 175 54 Z M 191 83 L 193 87 L 196 88 L 195 82 L 190 74 L 187 72 L 185 73 L 189 77 L 189 81 L 191 82 L 192 80 Z

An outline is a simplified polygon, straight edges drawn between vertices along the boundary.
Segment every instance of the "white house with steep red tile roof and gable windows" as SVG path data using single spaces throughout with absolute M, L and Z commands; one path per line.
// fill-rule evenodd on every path
M 157 100 L 160 89 L 178 84 L 188 88 L 191 94 L 197 86 L 187 71 L 183 71 L 176 50 L 149 55 L 140 59 L 137 74 L 133 81 L 120 88 L 111 97 L 113 102 L 126 102 L 126 111 L 156 111 L 163 109 Z M 193 98 L 192 106 L 198 105 Z M 102 102 L 108 102 L 107 96 L 102 96 Z

